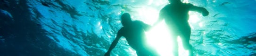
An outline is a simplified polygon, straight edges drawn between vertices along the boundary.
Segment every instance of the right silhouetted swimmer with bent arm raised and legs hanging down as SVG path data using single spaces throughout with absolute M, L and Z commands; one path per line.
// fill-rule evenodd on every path
M 193 6 L 190 3 L 182 3 L 181 0 L 169 0 L 170 4 L 161 9 L 157 23 L 165 19 L 173 37 L 173 54 L 178 55 L 177 37 L 180 36 L 184 49 L 189 50 L 189 55 L 193 56 L 192 45 L 190 44 L 190 25 L 189 11 L 196 11 L 203 16 L 207 16 L 209 12 L 203 7 Z

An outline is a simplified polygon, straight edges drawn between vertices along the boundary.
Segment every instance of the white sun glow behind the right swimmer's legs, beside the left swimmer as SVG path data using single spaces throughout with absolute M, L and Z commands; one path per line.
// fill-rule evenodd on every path
M 173 39 L 164 21 L 160 22 L 155 27 L 152 27 L 148 32 L 145 33 L 148 44 L 154 49 L 157 49 L 160 56 L 173 56 Z M 177 41 L 178 46 L 180 47 L 178 48 L 179 55 L 188 56 L 188 50 L 183 49 L 180 37 L 178 37 Z

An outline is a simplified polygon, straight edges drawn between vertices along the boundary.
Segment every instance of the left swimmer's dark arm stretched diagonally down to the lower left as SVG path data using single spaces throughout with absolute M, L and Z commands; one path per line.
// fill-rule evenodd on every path
M 109 49 L 107 50 L 107 53 L 105 53 L 104 56 L 110 56 L 110 52 L 112 49 L 114 49 L 116 47 L 116 44 L 118 43 L 119 39 L 121 38 L 122 35 L 121 31 L 119 30 L 116 36 L 116 39 L 112 42 L 111 46 L 109 47 Z

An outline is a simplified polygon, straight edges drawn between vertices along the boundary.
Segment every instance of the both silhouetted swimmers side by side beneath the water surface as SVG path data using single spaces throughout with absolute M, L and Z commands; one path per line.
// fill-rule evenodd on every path
M 207 16 L 209 12 L 203 7 L 193 6 L 190 3 L 182 3 L 181 0 L 169 0 L 170 4 L 166 5 L 160 10 L 157 23 L 165 19 L 165 23 L 172 32 L 172 38 L 174 39 L 173 54 L 178 54 L 178 42 L 177 37 L 182 39 L 184 49 L 189 50 L 189 56 L 193 56 L 192 45 L 190 44 L 190 25 L 188 22 L 189 11 L 196 11 L 203 16 Z M 123 36 L 129 45 L 136 50 L 138 56 L 158 56 L 155 50 L 147 47 L 145 43 L 144 31 L 150 28 L 149 25 L 141 21 L 132 21 L 131 15 L 125 13 L 121 16 L 122 27 L 116 36 L 116 39 L 112 42 L 105 56 L 109 56 L 112 49 L 115 48 L 119 39 Z M 157 24 L 155 23 L 155 24 Z

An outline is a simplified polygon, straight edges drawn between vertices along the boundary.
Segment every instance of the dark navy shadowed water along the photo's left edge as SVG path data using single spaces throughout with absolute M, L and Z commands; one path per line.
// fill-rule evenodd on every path
M 14 21 L 0 25 L 0 56 L 78 56 L 47 37 L 41 25 L 31 21 L 27 1 L 8 1 L 8 7 L 0 9 L 12 14 Z M 0 5 L 3 6 L 3 5 Z M 0 21 L 3 22 L 3 21 Z

